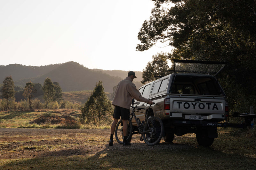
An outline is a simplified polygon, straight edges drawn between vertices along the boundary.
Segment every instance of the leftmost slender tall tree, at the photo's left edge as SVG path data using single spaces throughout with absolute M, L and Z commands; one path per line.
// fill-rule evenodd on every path
M 6 110 L 8 110 L 8 100 L 14 99 L 14 95 L 15 95 L 14 86 L 15 85 L 12 80 L 12 76 L 8 76 L 4 78 L 1 91 L 2 91 L 2 98 L 6 99 Z

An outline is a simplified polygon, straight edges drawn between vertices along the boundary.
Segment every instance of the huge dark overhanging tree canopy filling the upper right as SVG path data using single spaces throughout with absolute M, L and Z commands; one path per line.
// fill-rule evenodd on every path
M 155 8 L 140 29 L 137 50 L 160 41 L 174 47 L 169 59 L 227 61 L 220 82 L 230 105 L 234 110 L 237 105 L 255 105 L 255 0 L 153 1 Z

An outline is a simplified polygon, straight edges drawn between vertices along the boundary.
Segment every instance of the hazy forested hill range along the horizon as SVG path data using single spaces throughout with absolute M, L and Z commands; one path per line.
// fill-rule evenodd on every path
M 119 74 L 120 73 L 120 74 Z M 25 87 L 26 83 L 44 84 L 45 78 L 51 78 L 52 82 L 60 84 L 63 92 L 93 90 L 96 83 L 101 80 L 105 92 L 113 92 L 113 87 L 127 76 L 127 71 L 88 69 L 76 62 L 67 62 L 46 66 L 24 66 L 10 64 L 0 66 L 0 78 L 12 76 L 16 86 Z M 141 78 L 141 72 L 136 71 L 136 76 Z M 2 82 L 0 80 L 0 82 Z M 142 86 L 140 82 L 133 81 L 137 88 Z

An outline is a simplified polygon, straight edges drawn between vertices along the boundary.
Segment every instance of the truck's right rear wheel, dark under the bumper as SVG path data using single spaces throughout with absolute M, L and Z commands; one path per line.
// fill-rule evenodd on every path
M 214 141 L 214 137 L 208 137 L 207 129 L 199 129 L 196 132 L 196 141 L 201 146 L 211 146 Z

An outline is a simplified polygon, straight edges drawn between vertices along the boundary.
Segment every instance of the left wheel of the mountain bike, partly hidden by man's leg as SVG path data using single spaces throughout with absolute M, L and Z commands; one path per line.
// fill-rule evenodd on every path
M 132 121 L 129 119 L 127 121 L 128 127 L 127 127 L 127 142 L 131 142 L 132 140 Z M 116 136 L 116 141 L 119 144 L 123 144 L 123 120 L 121 119 L 117 124 L 116 124 L 116 130 L 115 130 L 115 136 Z

